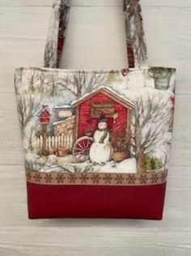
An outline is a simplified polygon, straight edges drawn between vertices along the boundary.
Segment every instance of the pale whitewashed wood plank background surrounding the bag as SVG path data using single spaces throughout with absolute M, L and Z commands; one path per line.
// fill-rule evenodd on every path
M 73 0 L 62 67 L 125 67 L 121 2 Z M 42 67 L 52 0 L 0 0 L 1 256 L 191 255 L 191 1 L 141 2 L 150 65 L 177 67 L 163 221 L 28 220 L 13 76 L 15 67 Z

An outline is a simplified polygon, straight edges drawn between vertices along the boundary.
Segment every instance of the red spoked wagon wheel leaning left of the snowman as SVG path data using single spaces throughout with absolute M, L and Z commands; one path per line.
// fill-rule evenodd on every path
M 93 138 L 87 136 L 80 137 L 77 141 L 75 141 L 72 153 L 78 162 L 87 161 L 93 141 Z

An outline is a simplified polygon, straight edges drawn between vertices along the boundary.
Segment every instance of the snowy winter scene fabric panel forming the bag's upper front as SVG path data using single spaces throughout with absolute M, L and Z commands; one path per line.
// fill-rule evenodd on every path
M 26 169 L 102 173 L 165 170 L 172 137 L 174 85 L 170 69 L 142 68 L 125 76 L 121 71 L 19 69 L 15 90 Z M 74 135 L 76 129 L 78 134 Z

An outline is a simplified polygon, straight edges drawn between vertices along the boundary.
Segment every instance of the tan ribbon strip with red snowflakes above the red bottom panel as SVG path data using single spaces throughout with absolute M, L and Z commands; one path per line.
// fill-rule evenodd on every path
M 127 173 L 66 173 L 26 171 L 28 182 L 36 184 L 72 185 L 121 185 L 140 186 L 163 184 L 167 181 L 168 171 L 142 174 Z

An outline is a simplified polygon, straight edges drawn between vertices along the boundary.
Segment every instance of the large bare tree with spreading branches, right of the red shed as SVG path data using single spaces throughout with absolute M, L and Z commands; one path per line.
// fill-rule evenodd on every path
M 132 118 L 132 147 L 137 160 L 138 172 L 145 172 L 146 154 L 163 142 L 171 118 L 169 98 L 163 93 L 147 93 L 136 98 Z

